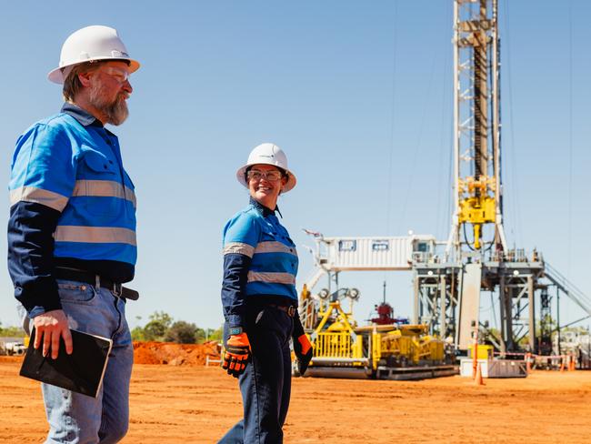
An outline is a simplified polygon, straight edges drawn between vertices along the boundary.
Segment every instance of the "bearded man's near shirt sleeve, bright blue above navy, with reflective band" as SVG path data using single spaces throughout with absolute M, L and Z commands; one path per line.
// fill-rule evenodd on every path
M 15 298 L 29 316 L 61 308 L 53 277 L 54 233 L 75 187 L 72 147 L 54 127 L 35 125 L 13 157 L 8 221 L 8 271 Z

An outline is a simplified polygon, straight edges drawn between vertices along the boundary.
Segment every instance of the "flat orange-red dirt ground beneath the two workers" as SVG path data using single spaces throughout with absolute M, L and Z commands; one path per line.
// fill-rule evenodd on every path
M 183 362 L 135 365 L 124 443 L 215 443 L 240 418 L 234 378 Z M 47 425 L 39 385 L 18 377 L 19 366 L 20 358 L 0 357 L 0 442 L 42 442 Z M 591 442 L 591 371 L 485 382 L 295 378 L 285 442 Z

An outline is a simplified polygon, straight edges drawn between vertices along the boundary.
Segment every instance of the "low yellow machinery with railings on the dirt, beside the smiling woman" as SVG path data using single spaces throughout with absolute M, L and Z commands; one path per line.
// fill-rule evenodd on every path
M 302 296 L 308 295 L 303 292 Z M 348 309 L 339 299 L 344 298 L 333 295 L 327 300 L 326 295 L 314 305 L 316 327 L 309 334 L 314 357 L 309 376 L 410 379 L 456 373 L 454 366 L 446 365 L 450 357 L 446 356 L 444 342 L 429 336 L 426 325 L 357 327 L 353 318 L 355 298 L 351 298 Z

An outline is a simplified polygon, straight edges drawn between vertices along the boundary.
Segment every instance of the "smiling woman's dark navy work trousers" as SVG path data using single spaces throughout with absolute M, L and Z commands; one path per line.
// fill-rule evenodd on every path
M 252 361 L 238 379 L 244 418 L 218 444 L 280 444 L 291 396 L 289 339 L 294 319 L 276 308 L 248 307 Z M 227 324 L 224 328 L 227 338 Z

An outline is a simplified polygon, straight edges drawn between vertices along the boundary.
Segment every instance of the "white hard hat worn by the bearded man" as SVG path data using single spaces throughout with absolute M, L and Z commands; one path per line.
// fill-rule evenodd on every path
M 93 60 L 123 60 L 129 63 L 130 73 L 139 68 L 139 63 L 129 58 L 116 29 L 93 25 L 78 29 L 65 39 L 59 66 L 47 77 L 56 84 L 63 84 L 72 67 Z

